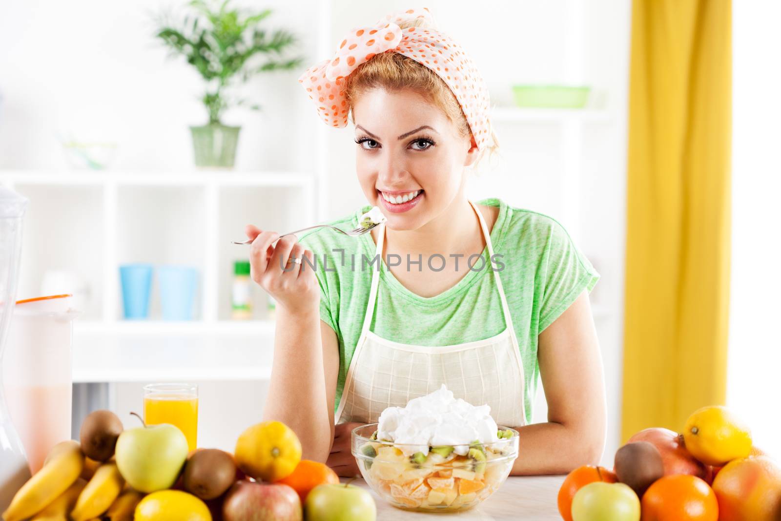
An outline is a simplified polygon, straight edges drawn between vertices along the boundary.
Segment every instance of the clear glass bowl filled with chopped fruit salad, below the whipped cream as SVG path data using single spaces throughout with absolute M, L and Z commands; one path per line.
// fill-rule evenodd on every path
M 493 443 L 429 448 L 373 439 L 376 430 L 369 423 L 352 431 L 352 455 L 369 487 L 400 509 L 471 509 L 501 487 L 518 457 L 518 431 L 508 427 Z

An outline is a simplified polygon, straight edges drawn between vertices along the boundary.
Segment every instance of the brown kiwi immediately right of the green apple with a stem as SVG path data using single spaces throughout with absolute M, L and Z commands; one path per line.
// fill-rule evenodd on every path
M 218 448 L 194 451 L 184 466 L 184 490 L 209 500 L 219 498 L 236 480 L 234 457 Z

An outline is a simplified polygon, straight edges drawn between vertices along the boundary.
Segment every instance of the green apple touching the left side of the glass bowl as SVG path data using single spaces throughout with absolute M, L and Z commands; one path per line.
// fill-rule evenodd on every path
M 369 491 L 351 484 L 323 484 L 309 492 L 306 521 L 375 521 L 377 507 Z

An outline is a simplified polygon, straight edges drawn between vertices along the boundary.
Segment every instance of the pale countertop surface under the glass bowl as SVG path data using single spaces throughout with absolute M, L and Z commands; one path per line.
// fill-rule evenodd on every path
M 377 505 L 377 521 L 412 521 L 446 518 L 473 521 L 504 521 L 505 519 L 562 519 L 558 515 L 556 496 L 565 476 L 510 476 L 490 498 L 465 512 L 425 513 L 397 509 L 369 489 L 366 481 L 353 482 L 371 491 Z M 345 480 L 342 480 L 345 481 Z

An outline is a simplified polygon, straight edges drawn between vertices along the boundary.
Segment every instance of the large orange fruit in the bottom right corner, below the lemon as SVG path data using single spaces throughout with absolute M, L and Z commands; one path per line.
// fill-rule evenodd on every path
M 767 456 L 727 463 L 713 480 L 720 521 L 781 519 L 781 468 Z

